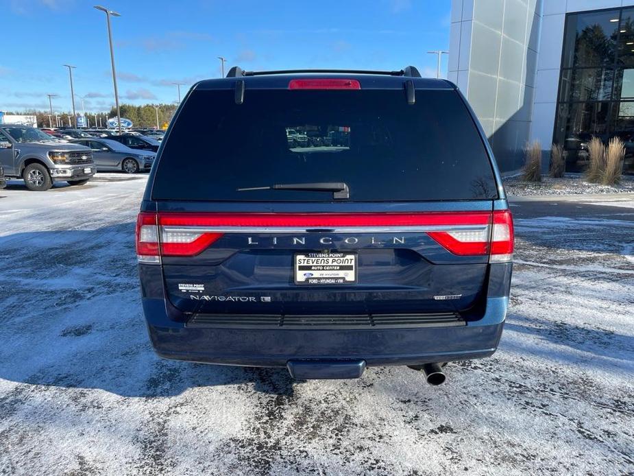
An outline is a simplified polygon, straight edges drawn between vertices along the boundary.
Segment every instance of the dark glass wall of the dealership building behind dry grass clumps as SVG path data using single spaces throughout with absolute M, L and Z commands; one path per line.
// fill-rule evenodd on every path
M 558 97 L 553 141 L 567 169 L 585 169 L 592 136 L 619 136 L 634 173 L 634 8 L 568 14 Z

